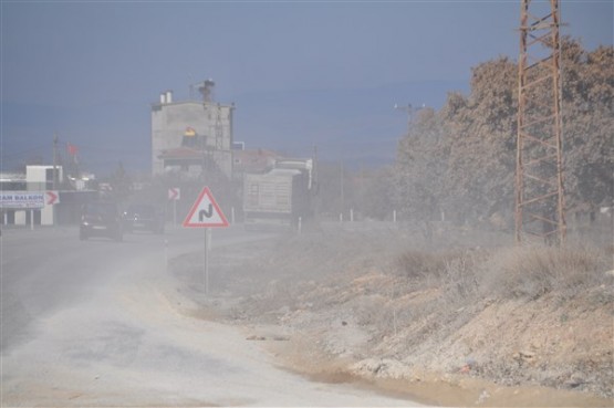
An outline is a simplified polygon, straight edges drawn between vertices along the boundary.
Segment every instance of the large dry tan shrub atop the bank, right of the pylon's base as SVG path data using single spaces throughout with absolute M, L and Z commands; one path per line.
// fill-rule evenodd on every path
M 587 248 L 516 247 L 483 265 L 483 289 L 500 299 L 538 299 L 558 292 L 573 296 L 605 282 L 607 257 Z

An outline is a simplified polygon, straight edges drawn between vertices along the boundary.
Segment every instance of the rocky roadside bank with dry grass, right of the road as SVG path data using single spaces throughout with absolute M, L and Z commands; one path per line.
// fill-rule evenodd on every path
M 331 227 L 219 248 L 209 295 L 201 254 L 174 260 L 173 271 L 196 302 L 186 313 L 244 326 L 281 365 L 319 380 L 434 405 L 614 404 L 612 249 L 570 261 L 593 275 L 552 276 L 565 286 L 514 282 L 506 259 L 531 254 L 510 253 L 509 237 L 456 230 L 435 240 Z

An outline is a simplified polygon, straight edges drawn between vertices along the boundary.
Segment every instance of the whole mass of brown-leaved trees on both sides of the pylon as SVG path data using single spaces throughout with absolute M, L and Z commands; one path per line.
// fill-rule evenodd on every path
M 562 121 L 568 208 L 613 202 L 614 49 L 592 52 L 562 40 Z M 547 103 L 549 84 L 532 97 Z M 539 104 L 538 104 L 539 105 Z M 402 213 L 429 220 L 493 219 L 512 227 L 514 210 L 518 65 L 507 57 L 472 70 L 468 96 L 449 93 L 439 112 L 417 115 L 398 145 L 395 197 Z M 532 132 L 540 132 L 539 127 Z

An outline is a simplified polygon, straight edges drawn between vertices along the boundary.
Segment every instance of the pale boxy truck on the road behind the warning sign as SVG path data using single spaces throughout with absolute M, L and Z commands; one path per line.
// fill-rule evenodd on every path
M 312 159 L 282 159 L 264 174 L 243 178 L 248 230 L 290 230 L 312 215 Z

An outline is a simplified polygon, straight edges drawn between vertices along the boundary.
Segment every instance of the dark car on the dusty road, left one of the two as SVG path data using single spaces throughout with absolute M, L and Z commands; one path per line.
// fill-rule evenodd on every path
M 124 228 L 117 205 L 95 201 L 83 205 L 79 238 L 106 237 L 115 241 L 124 239 Z

